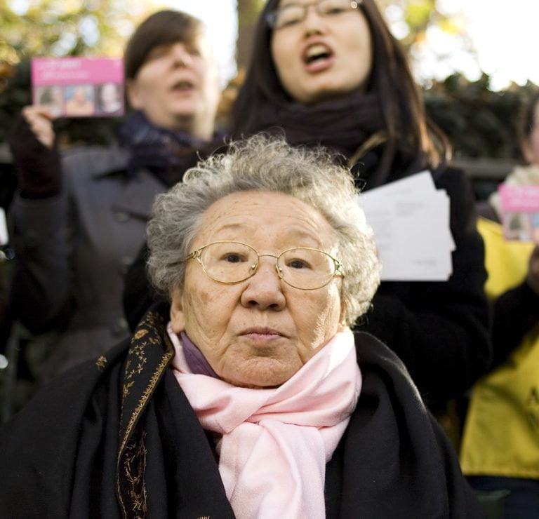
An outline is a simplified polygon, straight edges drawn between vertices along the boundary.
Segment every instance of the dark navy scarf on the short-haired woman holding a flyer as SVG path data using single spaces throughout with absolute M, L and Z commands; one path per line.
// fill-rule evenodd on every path
M 168 130 L 150 123 L 142 112 L 133 112 L 120 128 L 121 144 L 131 151 L 127 173 L 147 168 L 167 187 L 182 179 L 194 166 L 198 151 L 206 141 L 179 130 Z

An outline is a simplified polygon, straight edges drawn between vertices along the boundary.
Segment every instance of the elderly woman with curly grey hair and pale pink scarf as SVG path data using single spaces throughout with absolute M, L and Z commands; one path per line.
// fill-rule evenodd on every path
M 403 365 L 350 331 L 379 281 L 356 194 L 323 150 L 262 136 L 161 194 L 170 302 L 4 426 L 3 513 L 478 517 Z

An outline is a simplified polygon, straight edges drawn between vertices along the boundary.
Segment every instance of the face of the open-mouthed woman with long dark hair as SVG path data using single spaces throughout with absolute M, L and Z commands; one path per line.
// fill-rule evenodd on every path
M 371 34 L 361 10 L 321 16 L 312 0 L 303 20 L 274 29 L 272 59 L 283 88 L 307 105 L 366 88 L 372 68 Z M 349 3 L 350 5 L 350 3 Z

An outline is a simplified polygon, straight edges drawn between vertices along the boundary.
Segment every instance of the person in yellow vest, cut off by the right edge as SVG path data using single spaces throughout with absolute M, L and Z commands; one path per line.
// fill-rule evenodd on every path
M 539 184 L 539 97 L 524 117 L 518 166 L 507 184 Z M 506 519 L 539 518 L 539 243 L 506 241 L 497 194 L 478 227 L 493 302 L 493 370 L 470 397 L 460 462 L 477 490 L 507 490 Z M 484 214 L 486 214 L 483 211 Z M 497 221 L 495 221 L 497 220 Z

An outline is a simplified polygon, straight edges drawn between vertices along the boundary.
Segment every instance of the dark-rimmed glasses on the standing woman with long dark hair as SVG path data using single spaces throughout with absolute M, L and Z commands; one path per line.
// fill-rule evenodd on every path
M 353 11 L 358 8 L 359 4 L 361 4 L 361 0 L 319 0 L 309 4 L 288 4 L 267 13 L 266 21 L 272 29 L 277 30 L 283 27 L 291 27 L 305 20 L 307 9 L 310 6 L 314 7 L 319 16 L 331 17 Z

